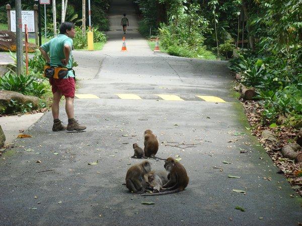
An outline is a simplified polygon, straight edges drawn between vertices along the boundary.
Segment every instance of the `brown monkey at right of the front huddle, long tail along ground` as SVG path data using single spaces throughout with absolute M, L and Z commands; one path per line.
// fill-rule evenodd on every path
M 162 186 L 161 192 L 153 194 L 142 194 L 141 196 L 173 194 L 183 191 L 187 187 L 189 183 L 189 177 L 187 175 L 186 169 L 182 164 L 175 161 L 175 159 L 173 159 L 172 157 L 169 157 L 165 161 L 164 167 L 169 172 L 169 181 Z

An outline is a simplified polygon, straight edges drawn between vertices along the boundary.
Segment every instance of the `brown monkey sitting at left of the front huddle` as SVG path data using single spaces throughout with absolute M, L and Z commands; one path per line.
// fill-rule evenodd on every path
M 147 175 L 151 171 L 148 161 L 131 166 L 126 174 L 126 187 L 133 193 L 143 193 L 148 180 Z

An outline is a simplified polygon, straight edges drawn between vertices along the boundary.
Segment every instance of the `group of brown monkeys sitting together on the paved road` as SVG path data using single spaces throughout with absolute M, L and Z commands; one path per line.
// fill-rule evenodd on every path
M 144 149 L 133 144 L 134 155 L 131 158 L 154 158 L 159 150 L 159 142 L 151 130 L 144 132 Z M 164 195 L 183 191 L 189 183 L 189 177 L 182 164 L 172 157 L 165 160 L 166 171 L 151 170 L 148 161 L 131 166 L 126 174 L 126 187 L 133 193 L 144 193 L 151 190 L 152 193 L 142 196 Z

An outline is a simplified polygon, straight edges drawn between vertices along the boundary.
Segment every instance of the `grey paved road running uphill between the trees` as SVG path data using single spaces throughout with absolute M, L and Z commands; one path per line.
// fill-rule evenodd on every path
M 112 2 L 104 49 L 75 52 L 81 79 L 75 112 L 87 131 L 51 132 L 48 112 L 26 132 L 32 138 L 18 140 L 0 159 L 0 224 L 296 225 L 301 221 L 300 199 L 290 197 L 294 191 L 246 130 L 241 103 L 229 89 L 233 78 L 227 63 L 153 53 L 133 26 L 130 1 Z M 133 30 L 126 34 L 128 52 L 120 51 L 122 34 L 116 31 L 123 12 Z M 164 100 L 162 94 L 182 100 Z M 198 95 L 226 102 L 205 101 Z M 132 143 L 142 146 L 146 129 L 159 139 L 158 156 L 182 158 L 190 177 L 185 191 L 141 197 L 122 185 L 127 169 L 141 161 L 129 157 Z M 173 147 L 176 143 L 193 147 Z M 240 154 L 241 150 L 248 152 Z M 97 160 L 98 165 L 88 165 Z M 164 169 L 162 161 L 149 161 L 154 169 Z

